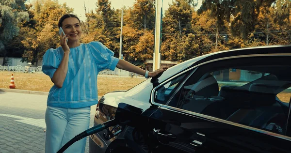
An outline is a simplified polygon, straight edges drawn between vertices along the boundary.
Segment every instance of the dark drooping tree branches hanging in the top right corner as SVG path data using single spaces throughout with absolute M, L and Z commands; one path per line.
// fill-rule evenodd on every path
M 269 14 L 271 6 L 277 7 L 274 20 L 282 25 L 289 18 L 290 5 L 290 0 L 204 0 L 199 12 L 210 10 L 212 17 L 217 19 L 218 28 L 224 20 L 229 21 L 230 16 L 233 16 L 230 27 L 232 35 L 242 36 L 247 41 L 250 33 L 256 30 L 260 11 Z M 266 19 L 265 23 L 270 23 Z

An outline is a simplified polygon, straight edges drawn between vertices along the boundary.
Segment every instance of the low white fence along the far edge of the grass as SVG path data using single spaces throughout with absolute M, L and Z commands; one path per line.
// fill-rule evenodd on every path
M 0 71 L 12 71 L 12 72 L 23 72 L 23 73 L 43 73 L 42 67 L 28 67 L 28 66 L 2 66 L 0 65 Z M 129 73 L 127 71 L 121 71 L 120 73 L 117 71 L 108 71 L 103 70 L 100 71 L 98 76 L 112 76 L 112 77 L 143 77 L 142 75 L 135 74 L 135 73 Z

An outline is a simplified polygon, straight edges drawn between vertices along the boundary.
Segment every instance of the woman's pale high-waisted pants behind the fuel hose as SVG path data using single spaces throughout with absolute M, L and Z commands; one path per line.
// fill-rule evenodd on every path
M 46 110 L 46 153 L 56 153 L 69 140 L 87 130 L 90 124 L 90 107 L 58 108 Z M 86 138 L 72 144 L 64 153 L 84 153 Z

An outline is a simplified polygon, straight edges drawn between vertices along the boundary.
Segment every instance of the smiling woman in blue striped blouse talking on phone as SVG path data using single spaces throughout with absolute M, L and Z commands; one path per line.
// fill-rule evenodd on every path
M 49 91 L 45 115 L 46 153 L 56 153 L 66 142 L 89 128 L 90 106 L 98 102 L 97 74 L 115 67 L 146 77 L 165 71 L 162 67 L 148 72 L 113 57 L 113 51 L 100 42 L 81 44 L 80 19 L 66 14 L 59 20 L 61 47 L 50 48 L 43 56 L 42 71 L 54 86 Z M 66 40 L 67 43 L 66 43 Z M 71 145 L 67 153 L 84 153 L 86 138 Z

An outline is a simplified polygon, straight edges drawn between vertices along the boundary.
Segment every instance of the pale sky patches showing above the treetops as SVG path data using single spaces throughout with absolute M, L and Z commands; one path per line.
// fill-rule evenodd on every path
M 67 6 L 70 8 L 74 9 L 74 13 L 81 19 L 85 20 L 85 10 L 84 10 L 84 3 L 86 6 L 87 12 L 90 10 L 95 10 L 96 9 L 96 2 L 97 0 L 58 0 L 59 3 L 67 3 Z M 135 0 L 110 0 L 111 1 L 111 6 L 114 9 L 121 9 L 122 8 L 122 3 L 126 7 L 130 7 L 133 5 Z M 202 0 L 198 0 L 198 6 L 197 8 L 200 7 Z M 169 3 L 172 3 L 172 0 L 163 0 L 162 7 L 163 10 L 167 10 L 169 8 Z

